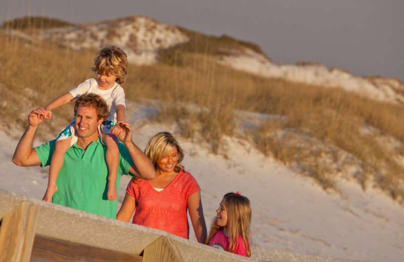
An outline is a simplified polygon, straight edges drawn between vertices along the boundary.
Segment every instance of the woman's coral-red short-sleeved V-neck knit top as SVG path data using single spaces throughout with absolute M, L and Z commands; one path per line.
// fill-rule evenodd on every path
M 147 180 L 135 184 L 133 179 L 126 188 L 126 192 L 136 200 L 132 223 L 189 238 L 187 199 L 200 190 L 195 178 L 181 170 L 160 192 Z

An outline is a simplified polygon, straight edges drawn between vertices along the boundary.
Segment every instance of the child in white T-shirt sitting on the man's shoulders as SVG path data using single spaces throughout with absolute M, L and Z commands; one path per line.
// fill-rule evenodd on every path
M 63 106 L 85 93 L 98 94 L 107 101 L 110 113 L 107 120 L 98 128 L 102 141 L 107 146 L 107 198 L 113 201 L 117 198 L 116 179 L 119 163 L 117 137 L 122 132 L 119 125 L 114 126 L 114 121 L 125 121 L 125 93 L 120 84 L 125 82 L 127 60 L 126 53 L 116 46 L 106 46 L 100 49 L 96 55 L 94 58 L 95 67 L 91 69 L 96 74 L 96 78 L 87 79 L 77 88 L 56 98 L 45 107 L 46 113 L 41 117 L 44 119 L 51 118 L 53 109 Z M 85 128 L 87 127 L 80 126 L 80 129 L 85 130 Z M 48 185 L 43 197 L 44 201 L 51 202 L 53 194 L 58 190 L 56 181 L 64 164 L 65 153 L 76 141 L 77 136 L 75 135 L 74 122 L 72 122 L 57 137 L 55 152 L 49 168 Z

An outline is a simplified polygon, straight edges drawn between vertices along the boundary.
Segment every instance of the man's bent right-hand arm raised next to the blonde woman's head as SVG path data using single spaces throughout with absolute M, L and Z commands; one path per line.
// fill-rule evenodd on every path
M 145 180 L 155 178 L 156 169 L 153 163 L 151 163 L 151 160 L 132 142 L 132 127 L 130 124 L 125 121 L 119 121 L 117 124 L 123 128 L 119 139 L 125 144 L 133 161 L 133 165 L 129 168 L 129 173 Z

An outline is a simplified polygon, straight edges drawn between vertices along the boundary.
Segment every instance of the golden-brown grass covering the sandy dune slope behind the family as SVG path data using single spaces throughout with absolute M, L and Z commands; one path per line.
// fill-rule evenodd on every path
M 342 89 L 235 71 L 218 64 L 215 55 L 221 50 L 218 47 L 237 48 L 245 43 L 188 35 L 193 41 L 161 51 L 165 62 L 129 66 L 123 84 L 127 99 L 161 101 L 160 113 L 150 121 L 176 123 L 179 135 L 205 142 L 218 154 L 223 153 L 224 136 L 245 139 L 324 188 L 337 189 L 336 178 L 342 176 L 355 179 L 364 189 L 379 186 L 402 202 L 402 106 Z M 96 50 L 74 51 L 1 31 L 0 46 L 3 126 L 17 123 L 25 128 L 32 108 L 45 106 L 94 76 L 90 68 Z M 55 110 L 43 133 L 54 137 L 69 123 L 71 106 Z M 259 113 L 261 118 L 249 113 Z

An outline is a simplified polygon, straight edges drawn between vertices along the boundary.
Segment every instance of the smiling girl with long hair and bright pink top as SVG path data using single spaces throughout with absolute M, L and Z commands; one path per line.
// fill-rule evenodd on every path
M 250 256 L 251 206 L 239 191 L 224 195 L 212 221 L 206 244 L 235 254 Z

